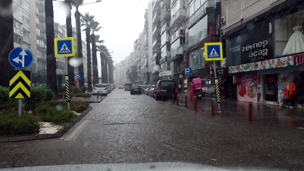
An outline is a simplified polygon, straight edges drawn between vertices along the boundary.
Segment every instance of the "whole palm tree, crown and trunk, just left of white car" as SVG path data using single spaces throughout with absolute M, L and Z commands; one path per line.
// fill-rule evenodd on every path
M 94 16 L 90 16 L 89 13 L 85 13 L 85 15 L 81 15 L 82 24 L 81 26 L 85 26 L 85 40 L 87 42 L 87 68 L 88 68 L 88 85 L 92 85 L 92 71 L 91 71 L 91 26 L 90 24 L 94 21 Z M 88 92 L 92 92 L 92 86 L 88 86 Z

